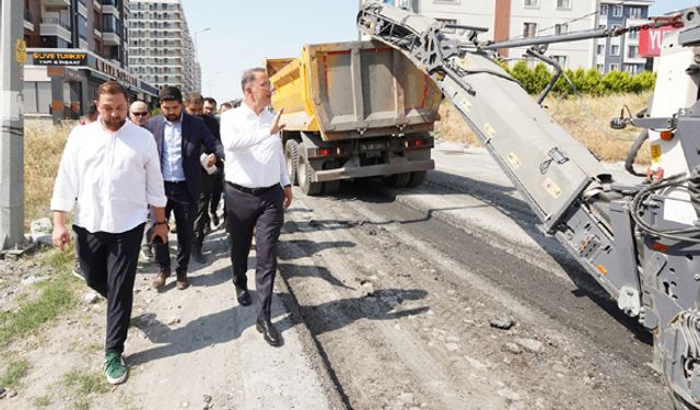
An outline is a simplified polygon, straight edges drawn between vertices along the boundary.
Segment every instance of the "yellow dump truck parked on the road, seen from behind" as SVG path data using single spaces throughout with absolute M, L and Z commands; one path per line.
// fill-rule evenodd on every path
M 413 187 L 434 168 L 442 93 L 400 51 L 380 42 L 316 44 L 266 60 L 292 184 L 335 194 L 341 179 L 383 177 Z

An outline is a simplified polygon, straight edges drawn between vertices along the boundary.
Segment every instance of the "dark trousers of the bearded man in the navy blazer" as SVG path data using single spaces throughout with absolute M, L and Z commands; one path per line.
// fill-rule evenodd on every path
M 186 274 L 189 266 L 189 256 L 192 250 L 192 227 L 197 202 L 187 189 L 185 183 L 165 183 L 165 219 L 175 213 L 177 225 L 177 262 L 175 272 Z M 155 260 L 161 267 L 161 272 L 171 272 L 171 250 L 168 244 L 155 244 Z

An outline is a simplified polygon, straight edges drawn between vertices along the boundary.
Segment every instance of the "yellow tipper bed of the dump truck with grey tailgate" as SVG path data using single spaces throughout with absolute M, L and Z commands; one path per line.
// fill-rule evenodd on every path
M 306 45 L 301 57 L 266 66 L 288 131 L 335 141 L 429 131 L 438 119 L 440 90 L 381 43 Z

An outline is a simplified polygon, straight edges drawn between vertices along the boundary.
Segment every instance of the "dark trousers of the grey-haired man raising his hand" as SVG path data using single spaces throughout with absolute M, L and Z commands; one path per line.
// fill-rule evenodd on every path
M 224 192 L 233 283 L 247 288 L 248 254 L 255 227 L 257 315 L 258 319 L 269 320 L 277 274 L 277 243 L 284 223 L 284 191 L 277 185 L 261 194 L 248 194 L 226 183 Z

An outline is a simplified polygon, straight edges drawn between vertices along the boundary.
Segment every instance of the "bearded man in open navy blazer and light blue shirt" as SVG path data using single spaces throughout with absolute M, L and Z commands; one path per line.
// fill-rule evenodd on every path
M 192 248 L 192 227 L 197 199 L 201 186 L 200 153 L 203 144 L 209 152 L 208 166 L 223 159 L 221 142 L 211 134 L 201 118 L 183 110 L 183 94 L 179 89 L 165 86 L 161 90 L 161 115 L 151 118 L 145 128 L 153 133 L 161 155 L 161 172 L 165 183 L 165 219 L 175 213 L 177 225 L 177 262 L 175 282 L 178 290 L 189 286 L 187 268 Z M 161 289 L 171 276 L 170 248 L 155 244 L 155 260 L 160 272 L 153 288 Z

